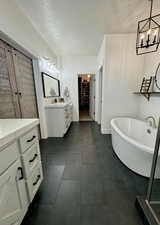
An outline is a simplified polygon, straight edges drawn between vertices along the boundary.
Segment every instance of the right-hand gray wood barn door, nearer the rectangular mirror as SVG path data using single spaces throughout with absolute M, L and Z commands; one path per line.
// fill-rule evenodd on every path
M 12 50 L 22 118 L 37 118 L 37 101 L 32 60 Z

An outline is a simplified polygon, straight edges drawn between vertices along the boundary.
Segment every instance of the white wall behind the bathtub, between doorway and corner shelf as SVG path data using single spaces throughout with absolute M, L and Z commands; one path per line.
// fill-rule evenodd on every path
M 137 116 L 139 98 L 133 92 L 137 90 L 144 62 L 136 56 L 135 40 L 135 34 L 105 36 L 98 58 L 98 67 L 103 64 L 104 71 L 102 133 L 110 133 L 110 121 L 114 117 Z

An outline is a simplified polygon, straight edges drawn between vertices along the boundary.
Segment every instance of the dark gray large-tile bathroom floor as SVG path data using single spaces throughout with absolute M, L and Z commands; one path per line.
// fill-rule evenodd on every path
M 40 145 L 44 181 L 23 225 L 142 224 L 134 202 L 148 180 L 119 161 L 95 122 L 73 123 Z

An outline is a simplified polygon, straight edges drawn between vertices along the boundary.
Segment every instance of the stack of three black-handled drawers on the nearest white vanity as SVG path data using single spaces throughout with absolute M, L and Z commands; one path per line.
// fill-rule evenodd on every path
M 31 203 L 43 179 L 37 127 L 20 137 L 20 146 L 28 200 Z

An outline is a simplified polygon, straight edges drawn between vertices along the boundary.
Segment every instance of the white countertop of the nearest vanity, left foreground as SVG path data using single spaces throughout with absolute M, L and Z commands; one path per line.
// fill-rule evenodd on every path
M 0 147 L 38 124 L 39 119 L 0 119 Z

